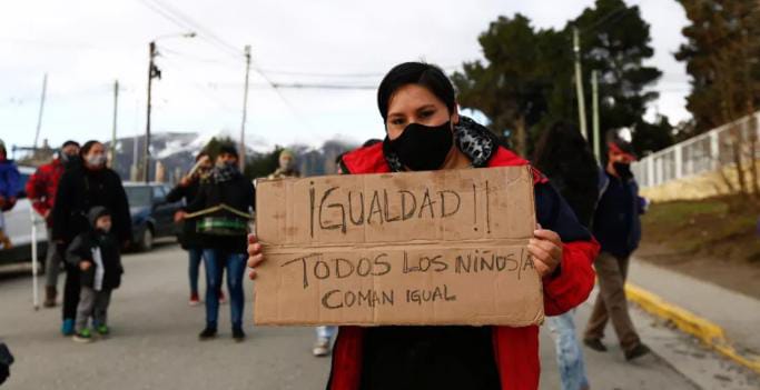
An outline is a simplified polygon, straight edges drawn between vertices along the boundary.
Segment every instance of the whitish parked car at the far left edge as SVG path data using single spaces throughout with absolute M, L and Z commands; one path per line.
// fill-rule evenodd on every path
M 21 173 L 21 188 L 26 188 L 29 177 L 34 173 L 34 167 L 19 167 Z M 27 198 L 27 193 L 21 190 L 17 197 L 16 206 L 3 212 L 6 218 L 6 234 L 10 238 L 13 248 L 0 249 L 0 264 L 9 264 L 14 262 L 31 261 L 31 224 L 32 216 L 34 224 L 37 226 L 37 249 L 38 260 L 45 259 L 45 253 L 48 249 L 48 232 L 45 227 L 42 218 L 33 211 L 31 201 Z

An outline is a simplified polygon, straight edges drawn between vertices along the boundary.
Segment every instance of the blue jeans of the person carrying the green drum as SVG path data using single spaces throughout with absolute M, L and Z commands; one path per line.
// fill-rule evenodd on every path
M 246 254 L 223 249 L 204 249 L 206 264 L 206 326 L 217 328 L 219 319 L 219 288 L 221 273 L 227 268 L 227 290 L 233 328 L 243 327 L 243 274 L 246 270 Z

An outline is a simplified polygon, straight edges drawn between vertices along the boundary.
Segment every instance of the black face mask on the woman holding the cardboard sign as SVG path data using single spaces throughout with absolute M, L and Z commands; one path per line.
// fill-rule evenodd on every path
M 411 123 L 398 138 L 392 141 L 385 137 L 384 142 L 408 169 L 432 171 L 443 166 L 452 149 L 452 122 L 435 127 Z

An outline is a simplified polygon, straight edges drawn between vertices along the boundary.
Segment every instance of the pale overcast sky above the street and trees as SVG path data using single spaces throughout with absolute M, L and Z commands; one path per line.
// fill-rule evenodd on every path
M 659 110 L 672 122 L 689 118 L 688 77 L 672 56 L 683 41 L 683 10 L 674 0 L 626 2 L 639 4 L 651 24 L 655 50 L 651 63 L 664 73 L 654 88 L 661 98 L 650 114 Z M 521 12 L 535 27 L 562 28 L 592 3 L 8 0 L 0 12 L 0 138 L 8 144 L 33 142 L 46 72 L 40 142 L 110 139 L 116 79 L 121 86 L 119 137 L 145 132 L 148 42 L 164 37 L 157 41 L 162 79 L 154 83 L 154 131 L 237 134 L 245 76 L 241 52 L 250 44 L 254 70 L 246 124 L 250 144 L 259 149 L 294 142 L 316 146 L 335 137 L 361 142 L 383 136 L 374 87 L 394 64 L 424 59 L 452 71 L 482 57 L 477 36 L 499 16 Z M 177 37 L 186 31 L 198 37 Z M 256 69 L 277 83 L 373 89 L 277 92 Z

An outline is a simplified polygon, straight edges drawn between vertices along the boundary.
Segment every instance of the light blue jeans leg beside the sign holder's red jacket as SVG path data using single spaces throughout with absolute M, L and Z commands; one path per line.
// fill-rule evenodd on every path
M 573 321 L 574 310 L 562 316 L 546 317 L 549 331 L 556 348 L 556 364 L 560 368 L 562 390 L 580 390 L 589 388 L 589 378 L 583 363 L 583 351 L 575 336 Z

